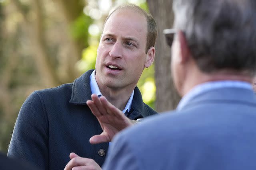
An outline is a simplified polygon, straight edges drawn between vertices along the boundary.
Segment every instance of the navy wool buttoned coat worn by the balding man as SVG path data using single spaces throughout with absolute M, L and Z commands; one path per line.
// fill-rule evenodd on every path
M 108 143 L 91 145 L 90 137 L 102 133 L 86 101 L 91 99 L 90 74 L 85 72 L 74 83 L 33 92 L 18 114 L 8 156 L 24 159 L 42 169 L 64 169 L 70 152 L 92 158 L 102 166 Z M 134 89 L 130 119 L 156 114 Z

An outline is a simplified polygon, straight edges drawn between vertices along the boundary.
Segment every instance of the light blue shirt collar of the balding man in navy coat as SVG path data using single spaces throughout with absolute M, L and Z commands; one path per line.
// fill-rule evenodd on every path
M 95 73 L 96 73 L 96 70 L 94 70 L 92 72 L 92 74 L 90 75 L 90 86 L 91 86 L 91 91 L 92 91 L 92 94 L 96 94 L 97 96 L 101 95 L 102 96 L 102 93 L 100 92 L 100 88 L 96 82 L 96 78 L 95 78 Z M 131 107 L 132 107 L 132 99 L 133 99 L 133 96 L 134 96 L 134 90 L 132 91 L 132 94 L 124 108 L 124 110 L 122 111 L 123 113 L 126 112 L 126 111 L 130 111 Z

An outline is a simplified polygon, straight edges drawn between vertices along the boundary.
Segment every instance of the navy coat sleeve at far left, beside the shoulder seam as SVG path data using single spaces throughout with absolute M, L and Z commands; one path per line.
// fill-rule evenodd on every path
M 48 118 L 39 92 L 33 92 L 22 105 L 7 156 L 48 169 Z

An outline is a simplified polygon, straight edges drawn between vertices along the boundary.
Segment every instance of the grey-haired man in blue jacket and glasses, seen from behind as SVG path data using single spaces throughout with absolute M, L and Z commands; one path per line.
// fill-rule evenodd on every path
M 164 33 L 182 100 L 117 135 L 103 169 L 255 170 L 255 0 L 174 0 L 173 9 Z

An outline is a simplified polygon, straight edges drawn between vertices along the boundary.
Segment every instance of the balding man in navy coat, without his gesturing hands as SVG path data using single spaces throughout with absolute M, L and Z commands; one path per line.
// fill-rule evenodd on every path
M 73 84 L 30 95 L 18 115 L 8 156 L 56 170 L 63 169 L 70 152 L 75 152 L 102 166 L 108 143 L 90 144 L 90 137 L 102 133 L 102 128 L 86 101 L 92 93 L 96 94 L 93 98 L 105 96 L 135 120 L 155 114 L 143 103 L 136 84 L 144 68 L 154 61 L 156 34 L 154 19 L 138 6 L 115 8 L 104 24 L 96 70 L 89 70 Z M 108 127 L 104 128 L 103 133 L 108 132 Z M 93 139 L 91 143 L 95 143 Z

